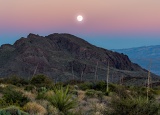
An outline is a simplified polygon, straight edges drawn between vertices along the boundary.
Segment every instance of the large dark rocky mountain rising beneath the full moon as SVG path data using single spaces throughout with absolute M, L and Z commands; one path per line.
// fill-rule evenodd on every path
M 0 47 L 1 77 L 45 74 L 58 81 L 80 78 L 105 80 L 108 63 L 109 80 L 112 82 L 119 82 L 122 76 L 147 77 L 147 71 L 132 63 L 127 55 L 96 47 L 70 34 L 29 34 L 13 45 L 4 44 Z M 158 79 L 156 75 L 152 76 Z

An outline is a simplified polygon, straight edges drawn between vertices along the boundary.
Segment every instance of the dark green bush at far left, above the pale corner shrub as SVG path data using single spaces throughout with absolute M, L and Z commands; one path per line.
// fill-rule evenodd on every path
M 4 101 L 9 105 L 23 106 L 29 99 L 23 95 L 22 92 L 16 91 L 15 89 L 6 88 L 2 96 Z

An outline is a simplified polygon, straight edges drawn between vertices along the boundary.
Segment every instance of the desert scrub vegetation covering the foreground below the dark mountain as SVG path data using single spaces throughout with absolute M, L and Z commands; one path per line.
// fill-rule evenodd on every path
M 44 75 L 0 79 L 0 115 L 160 115 L 160 88 L 104 81 L 56 83 Z

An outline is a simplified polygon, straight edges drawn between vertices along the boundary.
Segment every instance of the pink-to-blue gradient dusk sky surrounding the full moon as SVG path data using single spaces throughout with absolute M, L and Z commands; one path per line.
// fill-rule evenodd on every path
M 160 0 L 0 0 L 0 45 L 29 33 L 70 33 L 107 49 L 160 45 Z

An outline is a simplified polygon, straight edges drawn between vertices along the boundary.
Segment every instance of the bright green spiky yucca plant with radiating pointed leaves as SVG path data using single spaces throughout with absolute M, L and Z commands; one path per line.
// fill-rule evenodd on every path
M 62 86 L 54 89 L 54 96 L 49 100 L 59 111 L 67 114 L 70 109 L 74 108 L 77 104 L 72 95 L 68 93 L 68 86 L 64 89 Z

